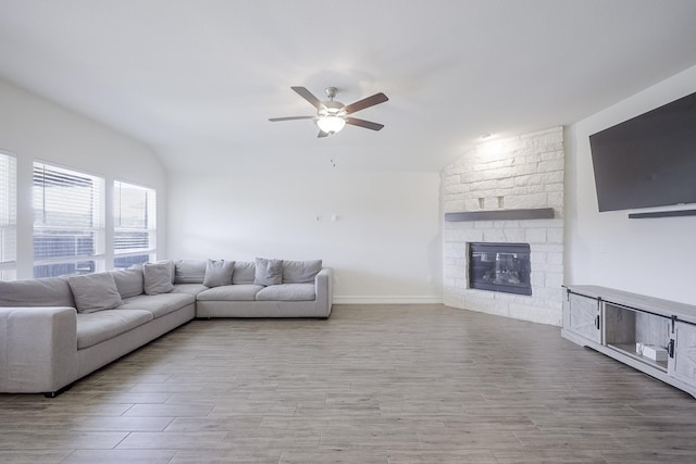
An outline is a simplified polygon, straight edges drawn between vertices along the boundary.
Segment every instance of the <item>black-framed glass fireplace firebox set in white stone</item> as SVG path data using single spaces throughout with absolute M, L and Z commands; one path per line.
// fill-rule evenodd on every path
M 469 243 L 469 288 L 532 294 L 529 243 Z

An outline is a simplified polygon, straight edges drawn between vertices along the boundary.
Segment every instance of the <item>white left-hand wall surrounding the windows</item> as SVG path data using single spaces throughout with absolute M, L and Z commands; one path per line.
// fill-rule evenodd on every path
M 17 278 L 33 276 L 32 167 L 35 160 L 157 189 L 158 252 L 165 255 L 166 175 L 145 145 L 0 80 L 0 150 L 17 158 Z M 110 202 L 111 189 L 107 188 Z M 111 217 L 107 217 L 109 227 Z

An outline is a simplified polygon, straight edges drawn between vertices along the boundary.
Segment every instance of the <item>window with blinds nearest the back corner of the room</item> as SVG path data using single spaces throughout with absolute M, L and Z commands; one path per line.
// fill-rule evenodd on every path
M 154 261 L 157 202 L 152 189 L 115 181 L 113 254 L 115 268 Z

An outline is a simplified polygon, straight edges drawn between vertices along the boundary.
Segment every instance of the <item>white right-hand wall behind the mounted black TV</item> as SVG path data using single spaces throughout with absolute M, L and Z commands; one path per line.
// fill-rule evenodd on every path
M 598 130 L 694 91 L 696 66 L 568 127 L 567 284 L 596 284 L 696 304 L 696 216 L 629 220 L 629 211 L 599 213 L 588 140 Z

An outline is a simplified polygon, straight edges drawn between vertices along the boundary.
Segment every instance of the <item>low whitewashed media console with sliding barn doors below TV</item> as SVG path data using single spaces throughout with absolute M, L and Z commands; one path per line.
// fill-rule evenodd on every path
M 566 286 L 561 336 L 696 397 L 696 306 Z

